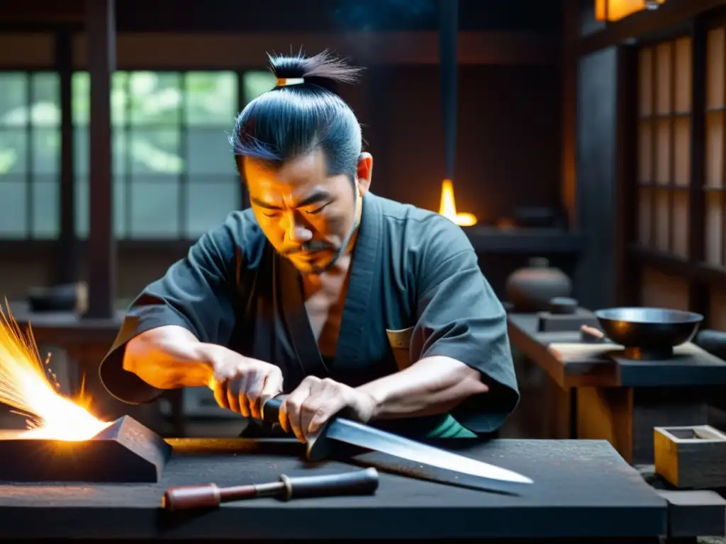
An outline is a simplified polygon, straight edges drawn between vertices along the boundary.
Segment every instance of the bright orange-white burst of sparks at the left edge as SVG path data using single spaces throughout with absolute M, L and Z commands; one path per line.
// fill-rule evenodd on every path
M 7 305 L 7 301 L 6 301 Z M 28 417 L 25 438 L 50 440 L 88 440 L 110 423 L 91 416 L 89 400 L 83 393 L 77 402 L 57 391 L 55 374 L 38 354 L 33 332 L 23 334 L 20 326 L 0 308 L 0 403 L 15 408 L 14 412 Z M 50 382 L 49 376 L 53 382 Z

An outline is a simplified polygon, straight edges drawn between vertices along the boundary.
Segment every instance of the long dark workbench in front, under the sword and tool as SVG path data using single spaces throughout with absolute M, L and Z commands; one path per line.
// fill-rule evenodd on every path
M 312 465 L 294 440 L 176 439 L 158 484 L 0 485 L 0 538 L 476 538 L 639 537 L 666 534 L 667 503 L 600 440 L 457 441 L 458 453 L 534 479 L 503 495 L 380 472 L 372 496 L 256 498 L 212 511 L 161 510 L 164 490 L 214 482 L 274 481 L 280 474 L 380 468 L 363 453 Z M 441 442 L 439 442 L 441 443 Z M 452 445 L 454 442 L 443 442 Z M 454 448 L 454 446 L 451 446 Z M 99 459 L 99 462 L 102 462 Z M 355 463 L 355 464 L 354 464 Z M 404 470 L 406 469 L 403 466 Z

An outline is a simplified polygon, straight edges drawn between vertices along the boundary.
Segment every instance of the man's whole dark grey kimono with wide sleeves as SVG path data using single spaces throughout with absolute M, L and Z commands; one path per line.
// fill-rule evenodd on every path
M 250 209 L 205 234 L 131 304 L 101 366 L 111 395 L 134 404 L 160 395 L 122 360 L 126 342 L 163 325 L 280 366 L 285 392 L 309 374 L 356 387 L 431 355 L 481 371 L 489 392 L 451 414 L 373 423 L 409 436 L 493 432 L 519 399 L 505 310 L 465 233 L 439 214 L 370 192 L 335 359 L 317 349 L 298 271 L 274 252 Z

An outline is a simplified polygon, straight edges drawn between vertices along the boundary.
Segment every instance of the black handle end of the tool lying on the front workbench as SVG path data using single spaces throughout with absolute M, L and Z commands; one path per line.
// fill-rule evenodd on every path
M 284 474 L 285 500 L 298 497 L 331 497 L 338 495 L 372 495 L 378 489 L 378 471 L 374 468 L 329 474 L 290 478 Z

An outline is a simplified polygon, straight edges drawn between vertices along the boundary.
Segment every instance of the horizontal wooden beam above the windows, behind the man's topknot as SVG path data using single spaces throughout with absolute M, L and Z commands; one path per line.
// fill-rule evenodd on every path
M 558 38 L 554 34 L 526 32 L 460 32 L 460 65 L 556 65 Z M 125 33 L 118 34 L 118 68 L 217 69 L 259 68 L 265 51 L 332 49 L 356 64 L 438 65 L 436 32 L 362 33 Z M 86 66 L 85 36 L 76 37 L 76 69 Z

